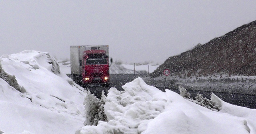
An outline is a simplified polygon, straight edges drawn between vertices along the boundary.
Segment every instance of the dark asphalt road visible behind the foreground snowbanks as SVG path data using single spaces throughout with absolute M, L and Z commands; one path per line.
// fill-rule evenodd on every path
M 110 75 L 110 87 L 116 87 L 118 91 L 123 91 L 122 85 L 125 83 L 131 82 L 134 79 L 140 77 L 139 75 L 134 74 L 113 74 Z M 143 77 L 143 76 L 141 76 Z M 91 93 L 94 93 L 95 96 L 98 98 L 101 97 L 101 92 L 104 91 L 105 95 L 107 94 L 110 87 L 89 87 L 87 90 L 90 90 Z M 161 91 L 164 91 L 165 89 L 170 89 L 168 87 L 157 87 Z M 177 89 L 170 89 L 176 93 L 179 93 Z M 192 91 L 188 90 L 190 93 L 191 98 L 195 98 L 198 93 L 202 94 L 203 97 L 206 97 L 207 99 L 210 99 L 212 92 L 208 91 Z M 256 109 L 256 96 L 255 95 L 244 95 L 244 94 L 237 94 L 237 93 L 220 93 L 215 92 L 215 95 L 217 95 L 220 99 L 222 99 L 225 102 L 228 102 L 230 104 L 243 106 L 247 108 L 254 108 Z

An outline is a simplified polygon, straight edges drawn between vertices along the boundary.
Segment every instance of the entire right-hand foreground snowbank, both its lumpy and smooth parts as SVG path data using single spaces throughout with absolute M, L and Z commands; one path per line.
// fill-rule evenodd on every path
M 212 111 L 170 90 L 164 93 L 146 85 L 141 78 L 122 88 L 111 88 L 106 97 L 107 121 L 84 126 L 79 134 L 255 134 L 256 110 L 213 97 L 221 112 Z

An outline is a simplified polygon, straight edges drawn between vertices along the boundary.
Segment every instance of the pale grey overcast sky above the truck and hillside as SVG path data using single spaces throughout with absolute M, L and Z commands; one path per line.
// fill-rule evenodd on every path
M 124 63 L 163 63 L 256 20 L 256 0 L 0 0 L 0 55 L 70 57 L 70 45 L 109 45 Z

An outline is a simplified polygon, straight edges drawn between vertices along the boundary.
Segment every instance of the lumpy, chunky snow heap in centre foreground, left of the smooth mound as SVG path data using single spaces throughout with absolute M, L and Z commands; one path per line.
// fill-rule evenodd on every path
M 80 134 L 141 133 L 150 120 L 164 111 L 165 93 L 135 79 L 122 86 L 123 92 L 111 88 L 106 97 L 104 111 L 108 122 L 98 122 L 98 126 L 84 126 Z

